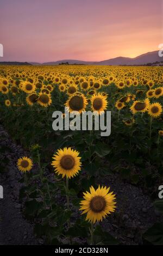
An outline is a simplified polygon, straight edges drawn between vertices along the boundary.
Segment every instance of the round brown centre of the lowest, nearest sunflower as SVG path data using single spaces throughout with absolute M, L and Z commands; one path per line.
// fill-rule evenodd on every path
M 93 212 L 101 212 L 105 209 L 106 201 L 104 197 L 96 196 L 91 199 L 90 208 Z

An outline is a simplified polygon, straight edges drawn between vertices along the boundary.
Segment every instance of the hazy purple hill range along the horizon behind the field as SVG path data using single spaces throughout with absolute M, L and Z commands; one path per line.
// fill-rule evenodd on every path
M 2 65 L 59 65 L 59 64 L 78 64 L 78 65 L 146 65 L 147 63 L 160 63 L 163 57 L 159 57 L 159 52 L 147 52 L 135 58 L 117 57 L 112 59 L 102 60 L 101 62 L 85 62 L 84 60 L 77 59 L 62 59 L 56 62 L 0 62 Z

